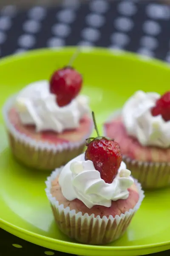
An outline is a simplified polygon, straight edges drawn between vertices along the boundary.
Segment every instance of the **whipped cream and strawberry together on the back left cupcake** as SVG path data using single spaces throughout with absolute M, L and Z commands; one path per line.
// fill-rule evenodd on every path
M 51 81 L 36 81 L 18 93 L 15 108 L 23 125 L 35 125 L 36 131 L 54 131 L 79 127 L 89 113 L 87 96 L 78 95 L 81 75 L 70 67 L 54 72 Z

